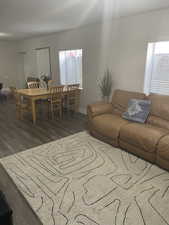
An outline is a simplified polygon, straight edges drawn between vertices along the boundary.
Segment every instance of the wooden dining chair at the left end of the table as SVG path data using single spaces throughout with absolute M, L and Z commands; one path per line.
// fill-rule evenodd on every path
M 16 104 L 16 114 L 18 119 L 23 119 L 23 114 L 25 112 L 31 111 L 31 105 L 28 101 L 24 102 L 21 96 L 17 93 L 17 90 L 14 91 L 14 98 Z

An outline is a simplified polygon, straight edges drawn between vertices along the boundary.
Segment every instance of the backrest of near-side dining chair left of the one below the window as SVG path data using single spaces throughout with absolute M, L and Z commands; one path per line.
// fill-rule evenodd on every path
M 63 89 L 64 89 L 64 85 L 50 87 L 49 90 L 50 90 L 51 102 L 62 101 Z

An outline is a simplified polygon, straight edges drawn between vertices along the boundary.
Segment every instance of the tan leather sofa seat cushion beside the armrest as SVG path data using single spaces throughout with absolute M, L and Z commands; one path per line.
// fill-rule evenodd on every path
M 98 133 L 102 134 L 103 136 L 115 139 L 117 142 L 120 128 L 128 123 L 130 122 L 114 114 L 103 114 L 96 116 L 92 120 L 92 126 Z

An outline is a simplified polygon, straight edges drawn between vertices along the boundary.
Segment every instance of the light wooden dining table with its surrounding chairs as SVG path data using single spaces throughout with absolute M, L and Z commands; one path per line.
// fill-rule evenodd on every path
M 42 86 L 39 81 L 28 81 L 24 89 L 13 91 L 17 119 L 26 119 L 31 114 L 33 124 L 38 119 L 38 111 L 47 109 L 49 120 L 62 119 L 63 113 L 79 111 L 80 84 L 55 85 L 52 80 Z

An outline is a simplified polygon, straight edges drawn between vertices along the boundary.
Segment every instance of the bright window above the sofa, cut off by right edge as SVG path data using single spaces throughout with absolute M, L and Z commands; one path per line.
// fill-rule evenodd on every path
M 144 92 L 169 95 L 169 41 L 148 44 Z

